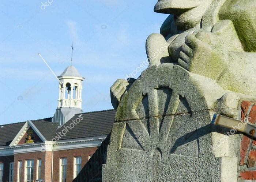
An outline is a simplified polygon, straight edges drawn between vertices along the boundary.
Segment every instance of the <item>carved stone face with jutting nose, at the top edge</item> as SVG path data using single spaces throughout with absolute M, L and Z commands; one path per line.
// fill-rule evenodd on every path
M 173 14 L 178 27 L 189 29 L 200 23 L 213 0 L 158 0 L 154 11 Z

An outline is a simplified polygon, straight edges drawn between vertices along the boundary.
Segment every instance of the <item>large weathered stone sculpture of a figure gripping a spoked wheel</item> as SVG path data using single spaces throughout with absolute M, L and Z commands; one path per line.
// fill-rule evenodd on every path
M 239 119 L 240 100 L 256 96 L 256 1 L 159 0 L 154 11 L 169 17 L 146 41 L 149 67 L 110 88 L 102 181 L 237 181 L 241 138 L 221 143 L 227 130 L 210 123 Z

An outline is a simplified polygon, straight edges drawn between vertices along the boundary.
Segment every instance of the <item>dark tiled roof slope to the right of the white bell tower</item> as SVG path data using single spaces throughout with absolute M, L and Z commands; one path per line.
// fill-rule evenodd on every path
M 65 130 L 65 127 L 67 128 L 70 126 L 73 120 L 77 120 L 79 122 L 78 118 L 80 116 L 80 122 L 77 123 L 74 128 L 71 128 L 71 130 L 65 134 L 66 136 L 61 137 L 60 140 L 108 135 L 112 130 L 115 114 L 115 110 L 94 111 L 76 114 L 67 123 L 60 127 L 57 130 L 57 133 L 62 132 L 63 129 Z M 71 124 L 71 126 L 72 125 L 73 124 Z

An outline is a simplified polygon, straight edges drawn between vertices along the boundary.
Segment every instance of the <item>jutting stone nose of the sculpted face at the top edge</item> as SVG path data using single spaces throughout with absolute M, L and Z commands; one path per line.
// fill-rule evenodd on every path
M 199 4 L 192 0 L 158 0 L 154 12 L 181 15 L 197 6 Z

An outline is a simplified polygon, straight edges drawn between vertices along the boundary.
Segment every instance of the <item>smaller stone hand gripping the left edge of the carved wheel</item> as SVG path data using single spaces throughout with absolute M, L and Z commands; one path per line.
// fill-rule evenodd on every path
M 114 109 L 117 109 L 121 98 L 123 97 L 125 91 L 127 91 L 132 83 L 136 79 L 129 78 L 128 80 L 125 79 L 118 79 L 116 82 L 110 87 L 110 97 L 111 103 Z

